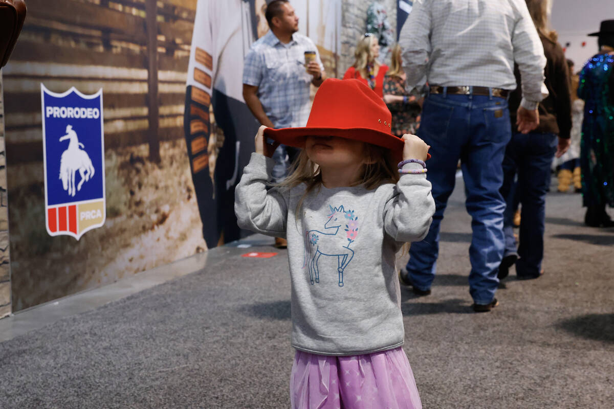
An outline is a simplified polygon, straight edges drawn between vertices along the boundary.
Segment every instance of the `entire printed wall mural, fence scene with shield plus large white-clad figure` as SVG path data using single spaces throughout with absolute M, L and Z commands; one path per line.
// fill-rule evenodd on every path
M 343 1 L 292 0 L 333 77 Z M 266 0 L 48 3 L 28 0 L 2 68 L 14 312 L 251 234 L 233 204 Z

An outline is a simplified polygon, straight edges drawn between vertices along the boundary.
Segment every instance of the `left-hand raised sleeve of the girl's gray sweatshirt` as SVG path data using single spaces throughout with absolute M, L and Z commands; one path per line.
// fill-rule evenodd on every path
M 286 238 L 288 197 L 278 188 L 266 189 L 273 159 L 252 153 L 235 189 L 235 214 L 242 229 Z

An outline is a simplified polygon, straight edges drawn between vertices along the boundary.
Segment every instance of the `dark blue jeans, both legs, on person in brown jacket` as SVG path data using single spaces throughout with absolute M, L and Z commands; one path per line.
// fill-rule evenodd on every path
M 509 201 L 503 221 L 505 255 L 518 253 L 518 277 L 538 277 L 542 269 L 546 191 L 550 186 L 550 167 L 557 142 L 554 134 L 515 134 L 505 151 L 501 194 L 508 197 L 518 172 L 517 194 L 523 209 L 518 250 L 513 231 L 513 204 Z

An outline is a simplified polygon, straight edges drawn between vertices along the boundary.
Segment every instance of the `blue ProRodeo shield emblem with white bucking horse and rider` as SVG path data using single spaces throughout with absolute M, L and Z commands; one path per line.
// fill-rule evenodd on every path
M 103 90 L 56 94 L 41 83 L 45 220 L 79 240 L 106 220 Z

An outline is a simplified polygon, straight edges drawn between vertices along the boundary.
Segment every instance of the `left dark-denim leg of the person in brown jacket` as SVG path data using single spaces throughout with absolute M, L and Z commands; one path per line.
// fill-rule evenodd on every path
M 505 200 L 505 212 L 503 212 L 503 234 L 505 235 L 505 251 L 503 256 L 516 254 L 516 239 L 514 237 L 514 213 L 516 212 L 516 200 L 519 196 L 518 183 L 515 182 L 516 170 L 518 169 L 518 145 L 514 137 L 511 138 L 505 157 L 503 158 L 503 185 L 500 193 Z

